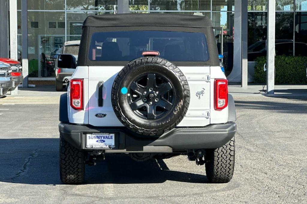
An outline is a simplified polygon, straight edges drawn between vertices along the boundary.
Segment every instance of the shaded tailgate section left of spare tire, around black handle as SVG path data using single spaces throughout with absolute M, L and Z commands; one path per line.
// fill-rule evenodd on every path
M 88 124 L 93 126 L 122 127 L 111 104 L 111 90 L 115 77 L 123 66 L 89 66 L 88 69 Z M 98 82 L 103 81 L 103 106 L 98 106 Z M 107 114 L 97 118 L 97 113 Z

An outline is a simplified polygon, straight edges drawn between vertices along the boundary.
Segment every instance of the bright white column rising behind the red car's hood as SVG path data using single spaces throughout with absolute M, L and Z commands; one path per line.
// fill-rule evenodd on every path
M 18 60 L 17 0 L 10 0 L 10 58 Z

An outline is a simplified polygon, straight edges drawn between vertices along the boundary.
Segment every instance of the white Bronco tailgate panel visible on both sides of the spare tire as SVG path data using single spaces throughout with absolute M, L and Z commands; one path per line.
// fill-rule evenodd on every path
M 93 126 L 122 127 L 111 104 L 111 89 L 115 77 L 123 66 L 90 66 L 88 69 L 88 123 Z M 182 66 L 190 87 L 190 104 L 186 117 L 178 127 L 201 127 L 210 124 L 210 77 L 209 66 Z M 103 81 L 103 106 L 98 106 L 98 83 Z M 198 96 L 196 94 L 198 93 Z M 107 114 L 104 118 L 97 113 Z

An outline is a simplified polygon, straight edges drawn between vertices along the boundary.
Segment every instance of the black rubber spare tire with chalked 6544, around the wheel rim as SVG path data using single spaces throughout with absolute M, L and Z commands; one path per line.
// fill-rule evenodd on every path
M 176 100 L 182 102 L 180 110 L 175 113 L 176 115 L 171 113 L 173 110 L 170 110 L 164 118 L 143 119 L 131 111 L 129 104 L 125 104 L 128 100 L 120 93 L 120 89 L 128 87 L 134 77 L 144 73 L 165 74 L 166 77 L 172 78 L 173 81 L 171 79 L 170 81 L 174 83 L 173 87 L 178 90 Z M 178 101 L 174 103 L 173 109 L 176 108 Z M 185 117 L 190 103 L 190 89 L 185 75 L 172 62 L 159 57 L 142 57 L 129 62 L 119 72 L 112 86 L 111 102 L 115 115 L 128 129 L 142 135 L 161 135 L 175 128 Z

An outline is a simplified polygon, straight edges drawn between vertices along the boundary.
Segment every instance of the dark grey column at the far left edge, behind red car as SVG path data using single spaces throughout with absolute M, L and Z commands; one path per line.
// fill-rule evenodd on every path
M 8 1 L 0 0 L 0 57 L 9 57 Z

